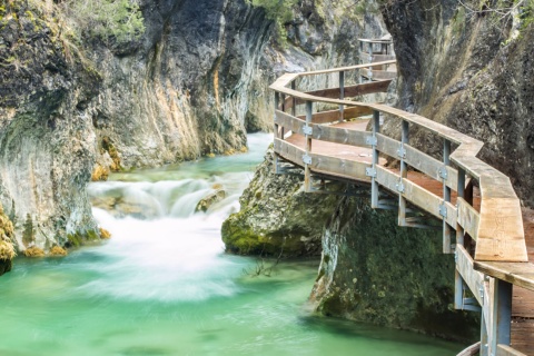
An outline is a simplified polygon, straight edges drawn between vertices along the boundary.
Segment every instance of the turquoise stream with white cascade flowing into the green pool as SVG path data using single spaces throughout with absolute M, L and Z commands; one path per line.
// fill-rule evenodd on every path
M 318 260 L 224 254 L 220 224 L 265 152 L 115 175 L 91 184 L 100 246 L 16 260 L 0 278 L 0 355 L 455 355 L 421 335 L 310 316 Z M 206 212 L 199 199 L 222 188 Z

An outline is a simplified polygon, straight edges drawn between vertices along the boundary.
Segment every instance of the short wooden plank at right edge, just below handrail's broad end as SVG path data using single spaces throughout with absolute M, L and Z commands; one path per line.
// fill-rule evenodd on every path
M 506 280 L 514 286 L 534 290 L 534 265 L 531 263 L 475 261 L 475 269 Z

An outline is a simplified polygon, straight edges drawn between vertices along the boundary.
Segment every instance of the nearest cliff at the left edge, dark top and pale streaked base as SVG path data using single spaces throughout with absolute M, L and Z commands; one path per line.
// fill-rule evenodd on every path
M 39 233 L 27 244 L 65 244 L 66 231 L 96 230 L 85 195 L 95 160 L 85 108 L 100 78 L 67 50 L 38 8 L 2 3 L 0 200 L 19 229 L 28 220 Z

